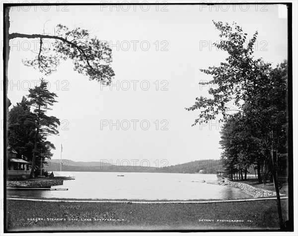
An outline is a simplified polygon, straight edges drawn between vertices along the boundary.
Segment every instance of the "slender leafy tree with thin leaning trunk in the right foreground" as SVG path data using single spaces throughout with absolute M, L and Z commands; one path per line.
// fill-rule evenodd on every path
M 228 53 L 227 62 L 222 62 L 219 67 L 201 69 L 202 72 L 213 76 L 213 80 L 209 84 L 216 84 L 218 87 L 217 89 L 209 89 L 208 92 L 212 98 L 197 97 L 195 104 L 186 109 L 189 111 L 200 110 L 199 118 L 195 120 L 193 125 L 208 122 L 208 120 L 215 119 L 219 114 L 222 114 L 220 120 L 225 120 L 229 111 L 243 112 L 247 114 L 251 122 L 257 124 L 261 129 L 261 142 L 265 147 L 265 155 L 269 160 L 273 174 L 279 223 L 282 228 L 283 219 L 274 150 L 280 143 L 278 134 L 286 133 L 285 129 L 282 128 L 285 124 L 283 121 L 287 120 L 285 116 L 287 90 L 284 89 L 287 88 L 287 84 L 284 83 L 286 78 L 285 65 L 279 66 L 280 69 L 283 68 L 284 70 L 278 74 L 277 71 L 271 70 L 269 63 L 253 58 L 253 45 L 258 32 L 255 32 L 253 37 L 247 40 L 247 34 L 243 33 L 242 28 L 235 23 L 232 24 L 232 27 L 228 23 L 223 24 L 223 22 L 214 22 L 214 24 L 221 32 L 221 41 L 215 43 L 215 46 Z M 276 84 L 279 80 L 281 83 Z M 284 86 L 281 86 L 282 83 Z M 276 90 L 278 90 L 278 94 Z M 278 99 L 283 101 L 279 102 Z M 278 105 L 274 101 L 278 102 Z M 231 109 L 229 103 L 236 108 Z

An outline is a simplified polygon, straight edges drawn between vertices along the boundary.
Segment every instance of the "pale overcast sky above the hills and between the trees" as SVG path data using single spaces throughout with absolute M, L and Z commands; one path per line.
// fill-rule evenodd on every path
M 219 123 L 192 127 L 199 111 L 184 109 L 197 96 L 208 95 L 209 87 L 202 88 L 199 82 L 212 77 L 199 69 L 218 66 L 227 57 L 211 47 L 220 40 L 212 20 L 237 22 L 249 37 L 258 31 L 255 56 L 275 66 L 288 53 L 285 9 L 282 5 L 13 8 L 10 33 L 43 33 L 49 20 L 45 33 L 54 34 L 57 24 L 79 26 L 110 42 L 116 76 L 112 88 L 102 87 L 75 72 L 72 61 L 44 76 L 22 64 L 22 59 L 34 55 L 28 48 L 35 49 L 38 40 L 30 40 L 28 46 L 28 40 L 16 39 L 11 42 L 8 97 L 15 105 L 34 81 L 41 77 L 49 81 L 49 90 L 59 101 L 49 115 L 62 123 L 60 135 L 49 137 L 56 146 L 55 159 L 60 158 L 61 142 L 63 159 L 73 161 L 108 159 L 117 164 L 117 159 L 119 163 L 138 159 L 139 164 L 147 159 L 155 166 L 155 160 L 161 165 L 163 159 L 166 165 L 219 159 Z

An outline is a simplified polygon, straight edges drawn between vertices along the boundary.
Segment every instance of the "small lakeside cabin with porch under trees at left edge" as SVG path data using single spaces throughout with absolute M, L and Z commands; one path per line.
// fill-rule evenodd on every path
M 8 179 L 27 179 L 30 177 L 31 169 L 29 165 L 31 162 L 25 161 L 22 158 L 18 158 L 17 152 L 11 150 L 9 153 L 10 159 L 8 159 Z

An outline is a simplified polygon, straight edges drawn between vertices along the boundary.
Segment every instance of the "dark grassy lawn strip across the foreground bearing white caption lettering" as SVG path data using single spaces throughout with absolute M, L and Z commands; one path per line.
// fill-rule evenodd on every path
M 286 221 L 288 220 L 287 199 L 282 200 L 282 208 L 284 221 Z M 6 219 L 8 231 L 204 231 L 277 230 L 279 228 L 275 200 L 204 204 L 7 200 Z

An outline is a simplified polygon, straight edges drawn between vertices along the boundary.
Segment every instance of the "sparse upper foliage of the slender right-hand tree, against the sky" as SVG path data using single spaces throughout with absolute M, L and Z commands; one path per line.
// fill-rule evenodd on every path
M 186 108 L 188 111 L 199 109 L 201 111 L 197 123 L 208 122 L 215 119 L 220 113 L 224 120 L 228 111 L 233 111 L 231 106 L 241 109 L 242 102 L 248 101 L 253 96 L 257 81 L 262 80 L 264 73 L 268 71 L 270 64 L 265 64 L 261 59 L 253 59 L 253 45 L 256 42 L 258 32 L 250 40 L 247 34 L 236 23 L 229 26 L 228 23 L 214 22 L 216 28 L 221 31 L 220 43 L 214 45 L 228 53 L 219 67 L 213 66 L 209 69 L 200 69 L 201 72 L 212 75 L 213 80 L 208 84 L 215 84 L 217 88 L 210 88 L 208 93 L 212 98 L 200 96 L 196 98 L 193 106 Z M 200 84 L 205 84 L 200 83 Z

